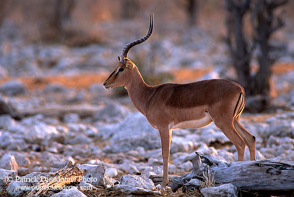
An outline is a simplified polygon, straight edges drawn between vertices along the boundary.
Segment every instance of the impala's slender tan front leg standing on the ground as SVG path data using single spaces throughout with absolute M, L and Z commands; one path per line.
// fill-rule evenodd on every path
M 172 130 L 168 127 L 158 129 L 161 139 L 162 159 L 163 159 L 163 180 L 160 189 L 164 190 L 169 184 L 169 158 L 170 158 L 170 146 L 172 140 Z

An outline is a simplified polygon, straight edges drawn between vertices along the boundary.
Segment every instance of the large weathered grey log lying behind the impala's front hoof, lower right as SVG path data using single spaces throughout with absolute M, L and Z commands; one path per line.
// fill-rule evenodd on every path
M 294 162 L 258 160 L 228 163 L 210 154 L 196 152 L 192 160 L 193 169 L 183 176 L 170 176 L 172 191 L 185 186 L 187 189 L 199 188 L 204 181 L 203 172 L 214 176 L 215 185 L 231 183 L 242 192 L 257 193 L 263 196 L 294 195 Z M 156 182 L 160 176 L 150 176 Z M 198 180 L 198 181 L 196 181 Z

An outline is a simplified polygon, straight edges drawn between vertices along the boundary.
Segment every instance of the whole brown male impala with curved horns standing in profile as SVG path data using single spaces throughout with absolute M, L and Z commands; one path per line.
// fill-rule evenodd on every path
M 106 79 L 106 89 L 124 86 L 134 106 L 148 122 L 158 129 L 162 145 L 163 181 L 168 183 L 168 166 L 172 129 L 201 128 L 214 121 L 224 135 L 232 141 L 238 152 L 238 160 L 244 160 L 245 145 L 250 160 L 255 160 L 255 137 L 240 123 L 245 106 L 244 88 L 232 81 L 212 79 L 190 84 L 147 85 L 137 66 L 127 57 L 129 50 L 146 41 L 153 31 L 153 15 L 147 35 L 127 43 L 115 70 Z

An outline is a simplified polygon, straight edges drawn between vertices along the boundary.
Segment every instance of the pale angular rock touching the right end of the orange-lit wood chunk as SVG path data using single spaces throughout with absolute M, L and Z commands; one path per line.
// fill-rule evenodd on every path
M 83 164 L 79 169 L 86 169 L 86 172 L 83 175 L 83 180 L 86 179 L 86 182 L 91 183 L 94 186 L 107 187 L 107 185 L 112 185 L 111 180 L 106 174 L 105 166 Z

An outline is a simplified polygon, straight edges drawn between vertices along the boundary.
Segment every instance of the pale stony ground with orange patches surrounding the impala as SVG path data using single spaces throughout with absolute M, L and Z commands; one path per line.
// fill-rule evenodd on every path
M 224 66 L 228 59 L 221 58 L 225 46 L 214 45 L 203 33 L 196 35 L 194 41 L 201 40 L 196 45 L 187 44 L 188 40 L 185 45 L 174 46 L 165 40 L 156 46 L 144 45 L 140 49 L 143 57 L 136 50 L 132 53 L 138 60 L 153 56 L 150 48 L 154 46 L 157 52 L 165 52 L 155 52 L 161 58 L 152 61 L 161 64 L 158 59 L 167 59 L 165 66 L 156 70 L 166 71 L 167 65 L 173 66 L 176 82 L 234 76 Z M 289 42 L 294 51 L 293 43 Z M 171 45 L 174 50 L 170 50 Z M 127 96 L 118 97 L 117 91 L 102 88 L 101 82 L 116 64 L 117 46 L 68 48 L 15 41 L 2 42 L 0 50 L 1 98 L 25 114 L 21 119 L 0 115 L 0 196 L 27 195 L 30 189 L 17 187 L 32 186 L 36 181 L 21 178 L 39 180 L 68 161 L 87 169 L 83 177 L 97 180 L 71 184 L 78 189 L 53 190 L 53 197 L 187 195 L 160 192 L 150 182 L 150 175 L 163 173 L 158 131 L 132 107 Z M 256 137 L 257 159 L 294 161 L 293 51 L 273 67 L 273 108 L 241 116 L 245 128 Z M 214 124 L 201 129 L 176 129 L 172 132 L 169 174 L 190 172 L 195 151 L 237 161 L 235 147 Z M 245 160 L 249 160 L 247 149 Z M 84 186 L 88 189 L 82 190 Z

